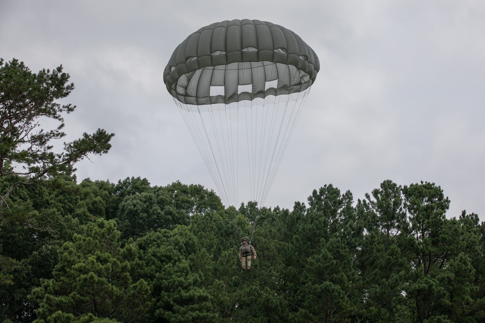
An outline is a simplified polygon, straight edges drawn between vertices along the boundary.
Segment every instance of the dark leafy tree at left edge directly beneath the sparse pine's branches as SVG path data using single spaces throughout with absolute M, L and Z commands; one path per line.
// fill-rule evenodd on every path
M 52 276 L 60 247 L 78 230 L 79 221 L 55 208 L 57 201 L 50 199 L 54 190 L 24 186 L 9 197 L 11 210 L 5 210 L 0 221 L 0 254 L 11 284 L 0 288 L 0 321 L 33 320 L 34 307 L 27 296 L 40 279 Z

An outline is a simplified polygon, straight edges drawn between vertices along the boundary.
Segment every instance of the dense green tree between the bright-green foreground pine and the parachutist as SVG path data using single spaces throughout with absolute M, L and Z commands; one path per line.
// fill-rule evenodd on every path
M 217 314 L 203 286 L 209 255 L 188 228 L 149 232 L 136 244 L 136 274 L 153 287 L 152 322 L 214 322 Z

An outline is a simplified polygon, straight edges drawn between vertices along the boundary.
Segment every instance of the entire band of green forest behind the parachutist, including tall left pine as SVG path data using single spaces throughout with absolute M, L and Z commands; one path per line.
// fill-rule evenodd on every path
M 327 184 L 290 210 L 179 181 L 78 182 L 74 164 L 113 134 L 53 153 L 68 74 L 1 62 L 0 322 L 484 321 L 485 225 L 447 216 L 435 183 L 357 200 Z M 238 236 L 253 228 L 247 272 Z

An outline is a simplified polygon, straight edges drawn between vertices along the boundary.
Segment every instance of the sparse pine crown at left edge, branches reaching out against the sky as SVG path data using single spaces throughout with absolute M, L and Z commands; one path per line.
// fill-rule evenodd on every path
M 98 129 L 92 135 L 84 133 L 79 139 L 65 142 L 61 153 L 52 150 L 52 140 L 66 136 L 62 131 L 63 114 L 76 108 L 57 102 L 74 89 L 68 81 L 69 74 L 63 72 L 62 65 L 33 73 L 15 58 L 8 63 L 0 58 L 0 177 L 15 178 L 1 191 L 0 207 L 6 204 L 8 208 L 7 198 L 16 187 L 46 176 L 70 174 L 74 164 L 88 154 L 107 153 L 111 148 L 109 142 L 114 134 Z M 59 124 L 44 130 L 40 121 L 46 118 Z

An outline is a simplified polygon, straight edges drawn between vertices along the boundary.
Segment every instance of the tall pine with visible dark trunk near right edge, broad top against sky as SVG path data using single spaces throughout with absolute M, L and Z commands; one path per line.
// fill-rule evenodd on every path
M 419 322 L 423 322 L 443 313 L 444 302 L 451 300 L 445 282 L 452 279 L 450 262 L 460 254 L 455 238 L 459 228 L 456 221 L 445 218 L 450 202 L 440 187 L 421 182 L 403 187 L 402 193 L 410 222 L 402 241 L 408 257 L 405 280 L 409 281 L 404 290 L 415 301 Z M 473 279 L 473 273 L 468 274 Z

